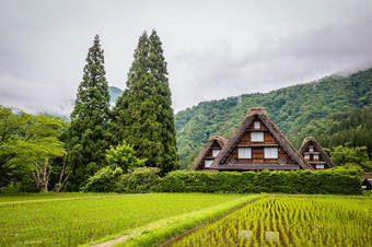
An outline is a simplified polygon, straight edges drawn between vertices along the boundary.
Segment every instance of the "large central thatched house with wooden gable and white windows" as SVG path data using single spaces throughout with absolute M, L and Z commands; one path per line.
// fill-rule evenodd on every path
M 217 170 L 314 168 L 280 132 L 265 108 L 249 108 L 247 116 L 210 168 Z

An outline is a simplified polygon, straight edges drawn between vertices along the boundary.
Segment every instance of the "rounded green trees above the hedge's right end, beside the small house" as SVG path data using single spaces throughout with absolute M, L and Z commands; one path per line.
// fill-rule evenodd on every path
M 348 148 L 339 145 L 330 153 L 330 156 L 339 166 L 357 165 L 365 172 L 372 170 L 372 162 L 369 161 L 365 146 Z

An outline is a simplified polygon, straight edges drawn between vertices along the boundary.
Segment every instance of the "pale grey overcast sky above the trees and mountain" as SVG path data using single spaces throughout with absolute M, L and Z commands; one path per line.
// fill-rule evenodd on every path
M 95 34 L 125 89 L 156 30 L 175 113 L 372 67 L 370 0 L 0 0 L 0 105 L 69 115 Z

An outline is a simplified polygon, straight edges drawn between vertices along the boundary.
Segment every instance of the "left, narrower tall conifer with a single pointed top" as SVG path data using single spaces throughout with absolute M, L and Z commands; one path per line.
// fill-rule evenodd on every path
M 89 49 L 83 80 L 79 85 L 71 122 L 68 128 L 70 179 L 73 190 L 104 164 L 108 148 L 109 93 L 105 78 L 104 56 L 100 37 L 94 37 Z

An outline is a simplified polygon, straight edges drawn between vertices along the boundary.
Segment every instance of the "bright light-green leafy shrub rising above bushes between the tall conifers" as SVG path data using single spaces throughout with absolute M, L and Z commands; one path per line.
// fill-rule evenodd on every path
M 138 158 L 136 151 L 125 141 L 116 148 L 111 145 L 109 150 L 106 150 L 106 161 L 112 168 L 120 167 L 124 173 L 133 167 L 144 166 L 146 162 Z

